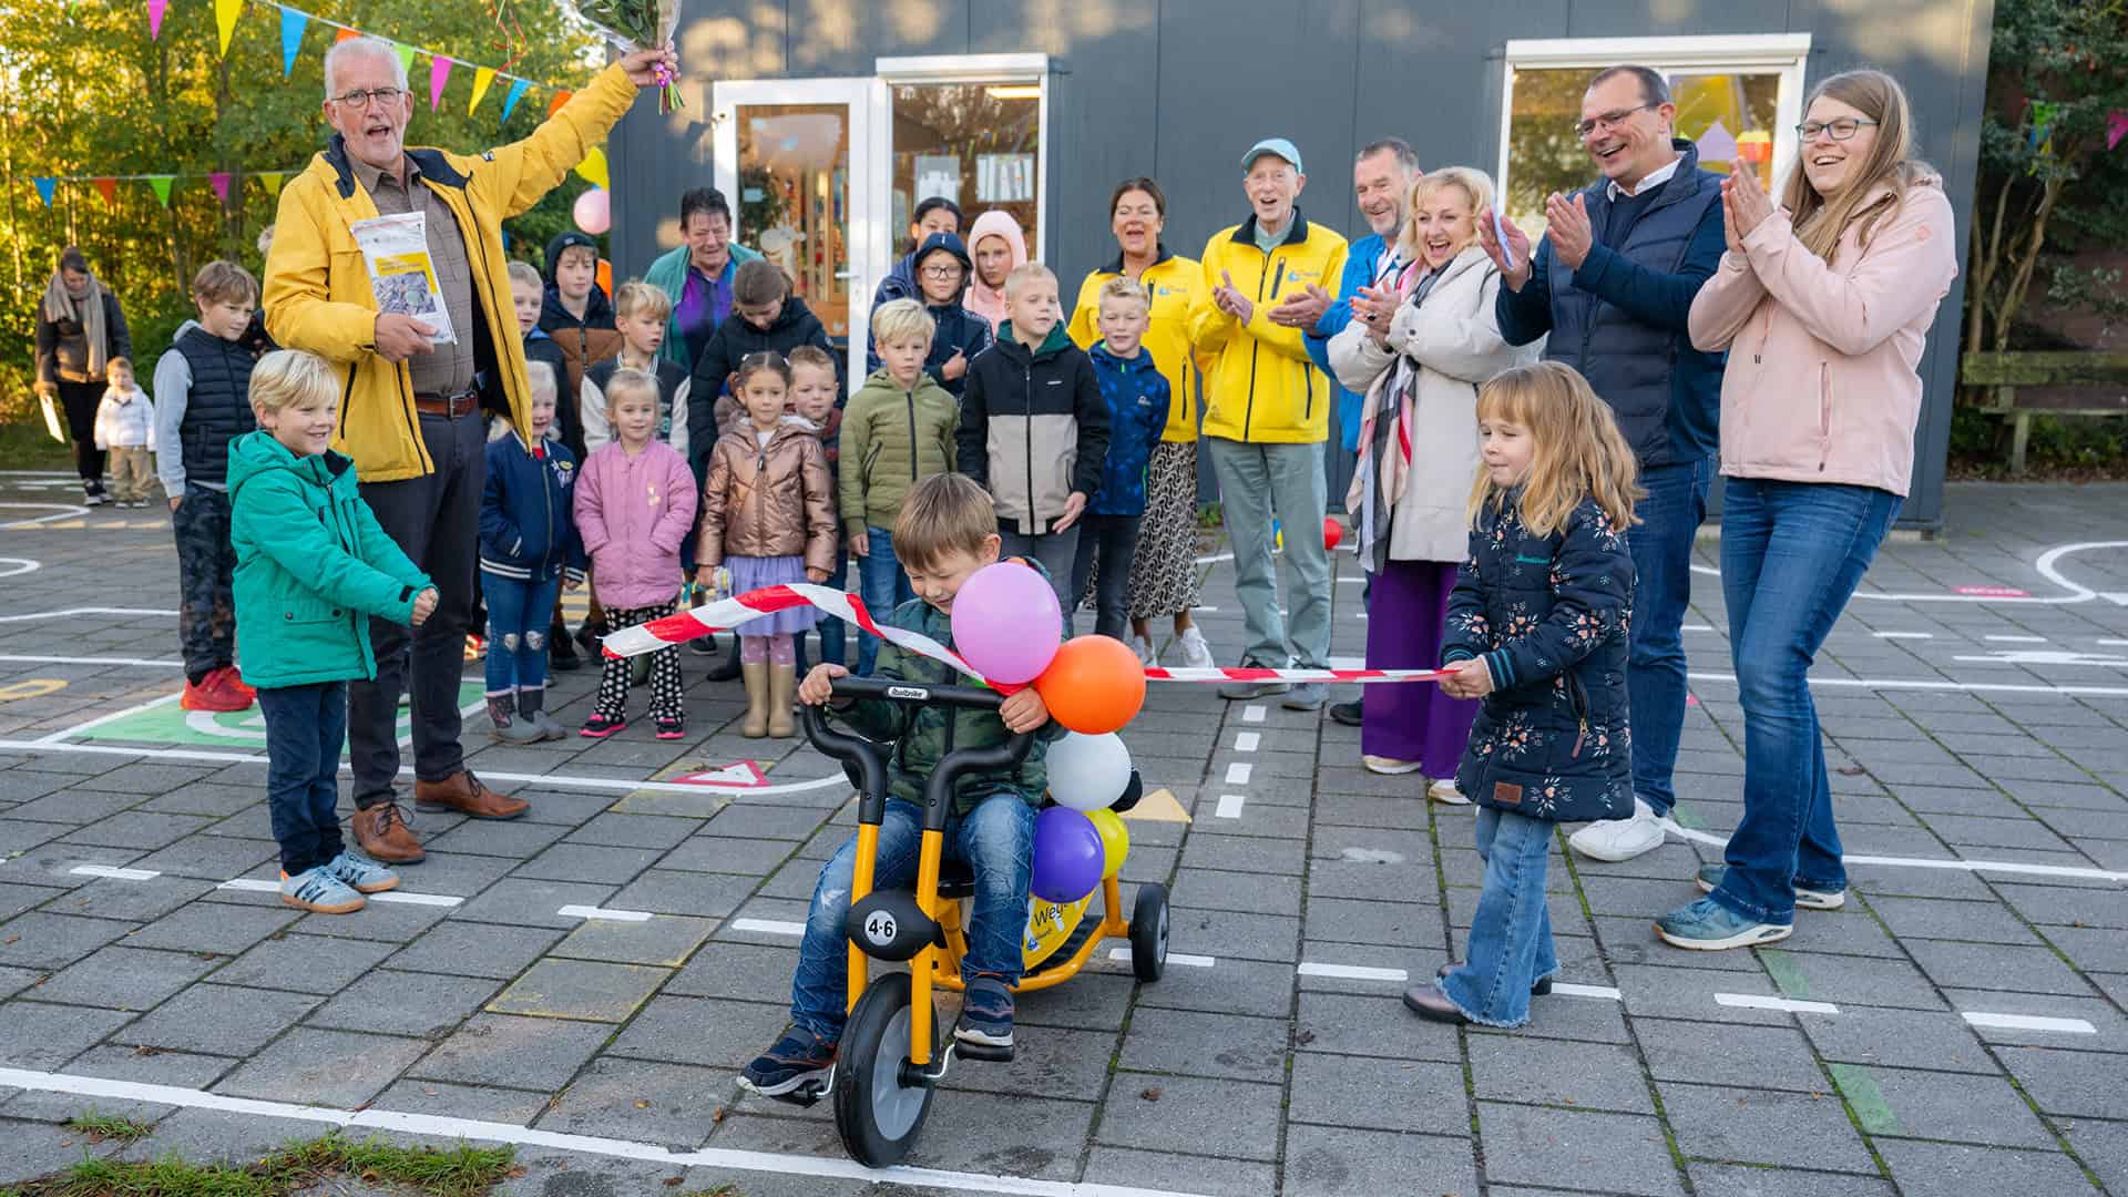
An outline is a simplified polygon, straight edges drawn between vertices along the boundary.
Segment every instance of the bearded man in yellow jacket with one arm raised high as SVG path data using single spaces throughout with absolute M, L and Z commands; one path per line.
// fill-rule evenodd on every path
M 362 498 L 440 592 L 417 633 L 385 620 L 370 624 L 377 679 L 349 686 L 355 841 L 379 860 L 409 865 L 423 856 L 392 788 L 400 767 L 394 722 L 409 682 L 415 803 L 472 818 L 517 818 L 528 809 L 521 799 L 481 786 L 458 743 L 458 684 L 485 481 L 481 411 L 509 415 L 519 428 L 530 424 L 502 222 L 536 204 L 583 162 L 636 89 L 653 83 L 660 64 L 672 66 L 672 53 L 632 53 L 532 136 L 462 155 L 404 145 L 413 94 L 392 43 L 349 38 L 326 53 L 326 121 L 334 134 L 281 192 L 266 258 L 266 330 L 340 373 L 340 430 L 332 447 L 355 460 Z M 423 217 L 434 285 L 451 319 L 449 341 L 413 315 L 379 311 L 351 232 L 362 219 L 411 213 Z

